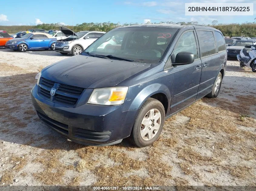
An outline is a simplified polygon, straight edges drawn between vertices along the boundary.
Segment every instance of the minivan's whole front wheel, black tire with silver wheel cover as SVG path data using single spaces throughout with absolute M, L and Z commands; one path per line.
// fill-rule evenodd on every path
M 151 115 L 151 113 L 153 113 L 151 112 L 152 110 L 154 111 L 153 115 Z M 155 113 L 158 113 L 157 116 L 155 115 Z M 159 116 L 159 118 L 154 121 L 147 120 L 147 117 L 148 119 L 152 119 L 154 116 L 156 118 L 158 118 Z M 146 126 L 143 125 L 142 120 L 144 121 L 144 123 L 146 123 Z M 161 131 L 164 127 L 164 123 L 165 108 L 163 104 L 154 98 L 148 98 L 148 100 L 146 100 L 145 103 L 143 103 L 141 108 L 138 110 L 131 131 L 131 135 L 129 137 L 129 141 L 136 147 L 146 147 L 148 145 L 151 145 L 161 134 Z M 158 130 L 156 130 L 156 128 Z M 157 132 L 154 133 L 155 131 Z

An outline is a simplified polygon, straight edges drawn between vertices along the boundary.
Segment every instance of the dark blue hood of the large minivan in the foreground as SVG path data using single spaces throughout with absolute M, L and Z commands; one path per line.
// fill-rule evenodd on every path
M 115 87 L 151 64 L 76 55 L 42 70 L 42 77 L 81 88 Z

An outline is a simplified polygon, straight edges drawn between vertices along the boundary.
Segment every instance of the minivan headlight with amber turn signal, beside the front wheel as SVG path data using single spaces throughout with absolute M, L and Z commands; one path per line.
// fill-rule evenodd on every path
M 87 103 L 98 105 L 123 104 L 128 87 L 94 89 Z

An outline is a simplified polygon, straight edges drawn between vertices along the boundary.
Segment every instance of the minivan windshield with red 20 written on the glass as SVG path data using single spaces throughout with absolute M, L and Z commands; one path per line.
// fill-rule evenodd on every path
M 157 63 L 177 30 L 160 27 L 116 28 L 92 43 L 82 55 Z

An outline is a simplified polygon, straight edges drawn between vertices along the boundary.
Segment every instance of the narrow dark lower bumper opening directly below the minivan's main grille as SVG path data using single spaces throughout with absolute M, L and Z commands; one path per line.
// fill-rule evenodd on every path
M 39 119 L 41 119 L 48 126 L 51 126 L 52 128 L 68 135 L 68 125 L 55 121 L 54 119 L 51 119 L 50 117 L 47 117 L 42 113 L 37 112 L 37 114 L 39 116 Z

